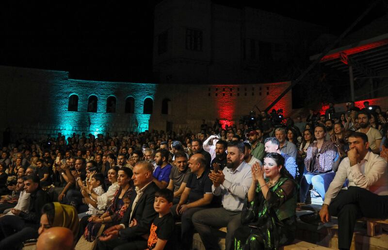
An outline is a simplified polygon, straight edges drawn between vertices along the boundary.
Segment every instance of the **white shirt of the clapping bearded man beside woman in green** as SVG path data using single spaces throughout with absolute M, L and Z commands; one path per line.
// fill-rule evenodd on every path
M 218 187 L 211 186 L 213 194 L 222 195 L 222 205 L 228 211 L 241 211 L 245 195 L 252 183 L 251 166 L 243 161 L 240 166 L 232 171 L 227 167 L 222 171 L 225 181 Z

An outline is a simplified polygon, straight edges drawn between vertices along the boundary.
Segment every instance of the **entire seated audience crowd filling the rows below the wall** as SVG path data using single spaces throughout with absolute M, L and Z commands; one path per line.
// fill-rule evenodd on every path
M 4 140 L 0 249 L 191 249 L 197 232 L 212 250 L 223 227 L 227 250 L 277 249 L 295 238 L 297 203 L 320 198 L 301 219 L 338 217 L 350 249 L 357 219 L 388 218 L 387 113 L 364 105 L 203 120 L 199 133 Z

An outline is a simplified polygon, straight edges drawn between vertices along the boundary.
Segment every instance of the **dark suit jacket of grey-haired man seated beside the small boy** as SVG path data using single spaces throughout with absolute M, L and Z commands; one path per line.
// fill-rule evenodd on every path
M 131 213 L 131 207 L 133 201 L 136 199 L 137 193 L 135 188 L 133 188 L 131 195 L 131 203 L 129 209 L 124 214 L 123 219 L 121 219 L 120 224 L 125 225 L 125 229 L 120 230 L 120 237 L 123 239 L 133 239 L 144 234 L 149 234 L 152 221 L 157 216 L 157 213 L 154 210 L 154 201 L 155 201 L 155 192 L 159 190 L 158 186 L 154 182 L 149 184 L 144 190 L 143 195 L 137 201 L 132 217 L 129 218 Z M 129 227 L 129 221 L 132 219 L 137 220 L 137 225 L 134 227 Z

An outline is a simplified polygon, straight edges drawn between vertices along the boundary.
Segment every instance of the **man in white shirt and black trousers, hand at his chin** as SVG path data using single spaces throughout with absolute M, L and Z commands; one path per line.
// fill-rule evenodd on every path
M 388 195 L 387 162 L 369 152 L 368 137 L 364 133 L 353 133 L 348 142 L 348 157 L 339 164 L 319 212 L 323 223 L 328 222 L 330 216 L 338 217 L 339 249 L 350 249 L 357 219 L 387 216 L 386 204 L 381 201 Z M 341 190 L 346 179 L 349 180 L 348 190 Z M 364 198 L 369 202 L 362 202 Z

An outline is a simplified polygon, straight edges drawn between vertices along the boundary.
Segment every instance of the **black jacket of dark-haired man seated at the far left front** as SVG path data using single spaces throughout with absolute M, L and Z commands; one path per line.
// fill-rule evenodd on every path
M 39 224 L 40 212 L 44 204 L 49 203 L 49 196 L 42 189 L 37 189 L 30 195 L 29 213 L 20 212 L 20 217 L 26 222 Z

